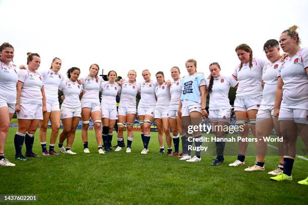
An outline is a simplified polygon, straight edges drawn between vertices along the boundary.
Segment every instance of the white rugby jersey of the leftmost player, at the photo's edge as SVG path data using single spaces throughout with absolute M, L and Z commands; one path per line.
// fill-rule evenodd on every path
M 16 104 L 16 84 L 18 76 L 16 66 L 9 64 L 7 66 L 0 61 L 0 99 L 9 104 Z

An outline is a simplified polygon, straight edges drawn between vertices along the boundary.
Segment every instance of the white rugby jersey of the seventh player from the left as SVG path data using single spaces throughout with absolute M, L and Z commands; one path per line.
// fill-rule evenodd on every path
M 140 84 L 128 81 L 122 82 L 120 104 L 121 107 L 136 107 L 136 95 L 140 92 Z

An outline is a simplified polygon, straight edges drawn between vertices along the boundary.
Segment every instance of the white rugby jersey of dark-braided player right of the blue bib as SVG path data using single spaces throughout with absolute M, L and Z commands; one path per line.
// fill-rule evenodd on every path
M 206 79 L 206 87 L 208 89 L 210 79 Z M 232 76 L 219 76 L 214 77 L 212 92 L 210 92 L 209 109 L 222 110 L 230 109 L 230 100 L 228 98 L 230 86 L 237 86 L 238 81 L 236 81 Z

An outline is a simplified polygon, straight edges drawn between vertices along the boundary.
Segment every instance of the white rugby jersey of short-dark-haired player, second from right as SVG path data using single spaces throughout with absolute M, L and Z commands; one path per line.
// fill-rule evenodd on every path
M 279 60 L 271 63 L 268 62 L 263 67 L 262 80 L 264 81 L 263 99 L 261 105 L 274 106 L 275 92 L 278 83 L 277 71 L 281 67 L 282 62 Z

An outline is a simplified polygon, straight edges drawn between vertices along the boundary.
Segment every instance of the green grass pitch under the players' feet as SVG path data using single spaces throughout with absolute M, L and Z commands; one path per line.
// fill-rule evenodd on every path
M 227 166 L 236 156 L 225 156 L 218 167 L 210 166 L 214 156 L 188 163 L 158 154 L 157 133 L 151 133 L 149 153 L 141 155 L 139 132 L 131 153 L 122 149 L 99 155 L 94 131 L 89 131 L 91 153 L 85 154 L 78 130 L 72 146 L 78 154 L 16 161 L 16 131 L 10 128 L 5 153 L 16 167 L 0 167 L 0 194 L 37 194 L 41 204 L 308 204 L 308 186 L 297 184 L 308 176 L 308 161 L 303 159 L 294 162 L 293 181 L 274 182 L 267 172 L 277 167 L 277 156 L 266 158 L 265 172 L 244 171 L 255 163 L 254 156 L 247 156 L 242 167 Z M 249 149 L 254 149 L 253 143 Z M 33 150 L 41 155 L 38 132 Z

